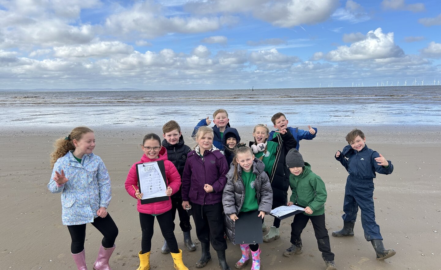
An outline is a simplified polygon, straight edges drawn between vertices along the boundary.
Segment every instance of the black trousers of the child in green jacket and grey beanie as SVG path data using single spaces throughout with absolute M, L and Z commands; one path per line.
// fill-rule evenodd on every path
M 291 243 L 297 247 L 302 246 L 300 234 L 303 232 L 309 220 L 311 220 L 312 227 L 314 228 L 314 234 L 317 239 L 318 250 L 321 251 L 321 257 L 325 261 L 333 261 L 334 253 L 331 252 L 331 246 L 329 244 L 328 230 L 325 226 L 325 214 L 320 216 L 308 216 L 303 213 L 295 215 L 291 223 Z

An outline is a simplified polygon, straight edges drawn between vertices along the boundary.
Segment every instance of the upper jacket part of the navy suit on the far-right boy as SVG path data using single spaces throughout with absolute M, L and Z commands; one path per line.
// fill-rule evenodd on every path
M 390 160 L 388 160 L 389 167 L 386 168 L 377 164 L 377 161 L 375 161 L 377 157 L 380 157 L 380 154 L 368 148 L 367 145 L 360 151 L 352 149 L 351 145 L 346 145 L 343 151 L 340 152 L 340 156 L 335 157 L 335 159 L 340 161 L 348 171 L 348 180 L 372 181 L 377 176 L 375 172 L 389 175 L 393 171 L 393 165 Z

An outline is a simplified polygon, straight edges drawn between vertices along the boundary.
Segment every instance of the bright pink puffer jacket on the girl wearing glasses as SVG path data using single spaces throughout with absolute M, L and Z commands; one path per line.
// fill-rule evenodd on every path
M 179 176 L 178 170 L 176 170 L 175 165 L 173 165 L 171 161 L 167 160 L 167 149 L 162 147 L 161 150 L 159 151 L 158 156 L 159 157 L 157 159 L 152 160 L 149 159 L 146 155 L 143 155 L 141 157 L 141 161 L 138 161 L 137 163 L 133 164 L 132 167 L 130 168 L 129 174 L 127 175 L 125 186 L 127 193 L 133 198 L 136 197 L 135 197 L 135 190 L 133 189 L 132 185 L 134 185 L 136 189 L 139 189 L 138 177 L 136 175 L 136 164 L 152 162 L 157 160 L 164 160 L 167 186 L 170 186 L 172 188 L 173 194 L 175 194 L 179 190 L 181 186 L 181 177 Z M 141 204 L 141 200 L 138 199 L 138 205 L 136 205 L 136 209 L 138 209 L 138 212 L 140 213 L 158 215 L 172 209 L 172 201 L 170 198 L 168 198 L 167 201 Z

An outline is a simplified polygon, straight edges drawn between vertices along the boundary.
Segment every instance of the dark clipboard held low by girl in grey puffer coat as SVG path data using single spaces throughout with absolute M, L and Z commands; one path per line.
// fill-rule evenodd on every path
M 262 217 L 259 211 L 240 212 L 234 223 L 234 244 L 263 243 Z

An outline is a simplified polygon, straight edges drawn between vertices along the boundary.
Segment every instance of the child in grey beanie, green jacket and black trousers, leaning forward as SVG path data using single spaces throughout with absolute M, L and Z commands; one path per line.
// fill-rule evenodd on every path
M 311 171 L 311 165 L 303 161 L 303 157 L 297 149 L 289 150 L 286 155 L 286 166 L 291 172 L 289 186 L 292 190 L 287 205 L 297 204 L 305 208 L 305 212 L 294 216 L 291 223 L 292 246 L 288 247 L 283 255 L 290 257 L 293 254 L 302 253 L 300 234 L 310 220 L 317 239 L 318 250 L 321 251 L 321 257 L 325 260 L 326 270 L 336 270 L 334 254 L 331 252 L 328 230 L 325 225 L 325 202 L 327 197 L 325 183 L 323 183 L 320 176 Z

